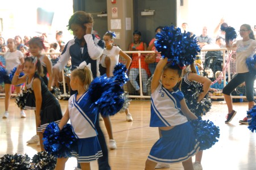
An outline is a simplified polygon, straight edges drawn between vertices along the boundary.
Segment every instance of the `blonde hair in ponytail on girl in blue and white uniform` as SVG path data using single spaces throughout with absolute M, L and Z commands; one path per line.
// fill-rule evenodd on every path
M 73 76 L 78 76 L 81 82 L 84 82 L 85 90 L 88 90 L 90 83 L 92 83 L 92 71 L 88 67 L 84 67 L 84 69 L 75 69 L 71 73 Z

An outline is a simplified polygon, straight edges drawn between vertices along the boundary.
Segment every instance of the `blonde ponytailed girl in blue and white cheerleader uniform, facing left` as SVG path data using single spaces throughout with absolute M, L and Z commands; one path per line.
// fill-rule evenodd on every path
M 88 66 L 79 66 L 71 73 L 71 88 L 77 93 L 68 100 L 68 109 L 60 121 L 59 128 L 63 129 L 70 119 L 73 132 L 78 139 L 76 154 L 81 169 L 90 169 L 90 162 L 102 156 L 100 143 L 97 138 L 97 113 L 90 107 L 92 101 L 86 98 L 88 87 L 92 82 L 92 72 Z M 68 158 L 57 158 L 56 170 L 65 169 Z

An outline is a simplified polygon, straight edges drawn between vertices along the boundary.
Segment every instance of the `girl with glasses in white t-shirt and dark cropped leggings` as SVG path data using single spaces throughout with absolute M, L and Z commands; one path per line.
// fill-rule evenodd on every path
M 235 44 L 233 44 L 233 47 L 237 48 L 237 74 L 222 90 L 226 105 L 228 106 L 228 114 L 226 115 L 225 121 L 226 124 L 228 124 L 237 113 L 233 110 L 232 97 L 230 96 L 230 94 L 241 83 L 245 82 L 248 108 L 250 109 L 254 105 L 253 86 L 255 74 L 249 72 L 249 69 L 246 65 L 246 58 L 253 56 L 253 54 L 255 53 L 256 41 L 253 30 L 251 29 L 251 26 L 249 24 L 241 25 L 240 36 L 242 37 L 242 40 L 238 40 Z M 243 118 L 243 120 L 240 120 L 239 122 L 241 124 L 249 124 L 247 117 Z

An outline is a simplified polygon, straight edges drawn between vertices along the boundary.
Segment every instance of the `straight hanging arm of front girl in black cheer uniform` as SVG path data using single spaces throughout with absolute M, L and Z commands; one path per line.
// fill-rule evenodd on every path
M 39 78 L 34 78 L 33 80 L 33 91 L 35 94 L 35 103 L 36 103 L 36 128 L 41 125 L 41 107 L 42 107 L 42 90 L 41 90 L 41 80 Z

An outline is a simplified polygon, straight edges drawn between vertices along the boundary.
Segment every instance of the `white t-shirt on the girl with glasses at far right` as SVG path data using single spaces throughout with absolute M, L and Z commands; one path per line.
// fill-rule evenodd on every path
M 248 41 L 238 40 L 236 45 L 237 45 L 237 59 L 236 59 L 237 73 L 246 73 L 249 71 L 246 65 L 246 58 L 252 57 L 255 54 L 256 41 L 252 39 Z

